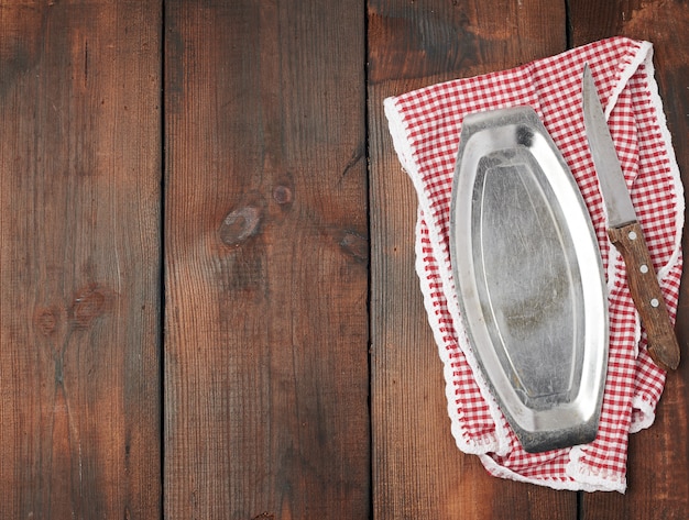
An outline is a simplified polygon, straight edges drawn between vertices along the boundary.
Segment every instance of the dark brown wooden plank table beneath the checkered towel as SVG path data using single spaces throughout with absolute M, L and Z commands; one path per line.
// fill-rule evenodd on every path
M 689 179 L 683 0 L 2 0 L 0 518 L 687 518 L 683 289 L 626 496 L 455 447 L 382 113 L 614 34 Z

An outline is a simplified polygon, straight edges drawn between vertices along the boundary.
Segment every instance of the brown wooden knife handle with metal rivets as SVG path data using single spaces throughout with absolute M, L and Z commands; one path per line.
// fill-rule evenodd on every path
M 611 228 L 608 236 L 624 258 L 630 292 L 646 329 L 650 358 L 665 370 L 677 368 L 679 344 L 641 225 L 632 222 Z

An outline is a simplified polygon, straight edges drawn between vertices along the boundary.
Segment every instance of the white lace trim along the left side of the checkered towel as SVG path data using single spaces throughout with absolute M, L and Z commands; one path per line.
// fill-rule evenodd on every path
M 422 186 L 419 175 L 418 175 L 419 167 L 416 164 L 416 161 L 414 159 L 414 153 L 407 140 L 408 129 L 404 124 L 402 114 L 397 110 L 397 107 L 395 104 L 395 99 L 386 98 L 385 100 L 383 100 L 383 107 L 385 111 L 385 117 L 387 118 L 390 134 L 393 140 L 393 147 L 395 148 L 395 152 L 397 153 L 400 162 L 402 163 L 402 167 L 407 173 L 407 176 L 412 180 L 412 184 L 414 185 L 414 188 L 417 193 L 418 208 L 419 208 L 417 215 L 419 215 L 419 219 L 417 220 L 416 233 L 418 233 L 418 223 L 420 222 L 420 215 L 424 213 L 431 214 L 430 208 L 427 207 L 428 204 L 426 200 L 419 197 L 419 195 L 424 192 L 424 187 Z M 434 229 L 433 223 L 426 222 L 426 225 L 428 226 L 428 240 L 430 241 L 430 245 L 434 252 L 437 253 L 441 251 L 441 247 L 439 245 L 439 240 L 438 240 L 438 232 Z M 417 234 L 417 237 L 418 237 L 418 234 Z M 415 244 L 417 244 L 418 242 L 419 242 L 418 240 L 415 240 Z M 438 341 L 440 324 L 438 323 L 438 320 L 435 313 L 433 312 L 430 288 L 428 287 L 426 277 L 424 276 L 423 258 L 419 259 L 418 251 L 416 252 L 416 266 L 415 267 L 416 267 L 416 274 L 419 278 L 422 294 L 424 296 L 424 305 L 426 308 L 426 313 L 428 316 L 428 321 L 433 330 L 434 338 L 436 339 L 436 346 L 438 348 L 438 354 L 444 365 L 444 376 L 445 376 L 445 384 L 446 384 L 445 392 L 446 392 L 446 400 L 447 400 L 447 406 L 448 406 L 448 414 L 451 421 L 451 432 L 452 432 L 452 436 L 455 436 L 455 442 L 457 443 L 460 450 L 466 451 L 467 453 L 471 453 L 471 454 L 480 454 L 480 453 L 489 453 L 489 452 L 494 452 L 497 454 L 505 454 L 510 451 L 510 438 L 508 438 L 507 431 L 505 430 L 502 411 L 500 410 L 497 402 L 495 401 L 495 398 L 489 390 L 488 384 L 482 377 L 482 373 L 478 368 L 478 362 L 475 361 L 473 353 L 471 352 L 471 348 L 466 343 L 462 343 L 462 338 L 461 338 L 460 332 L 463 328 L 463 324 L 459 316 L 458 305 L 457 302 L 451 302 L 450 299 L 448 298 L 447 300 L 448 311 L 450 312 L 450 314 L 452 316 L 452 319 L 455 320 L 456 330 L 458 331 L 458 341 L 460 343 L 460 347 L 464 354 L 464 357 L 467 358 L 467 363 L 469 364 L 469 366 L 471 367 L 473 372 L 474 379 L 477 381 L 479 390 L 481 391 L 481 395 L 489 407 L 491 418 L 493 419 L 493 423 L 495 425 L 495 441 L 485 442 L 485 444 L 483 444 L 482 442 L 477 442 L 477 443 L 468 442 L 468 440 L 466 439 L 463 434 L 463 429 L 461 427 L 459 414 L 457 413 L 455 409 L 452 409 L 450 405 L 451 402 L 455 401 L 455 397 L 453 397 L 455 387 L 452 386 L 450 359 L 449 359 L 448 353 L 445 351 L 445 348 L 441 347 L 442 341 Z M 446 274 L 447 272 L 449 272 L 449 269 L 447 268 L 439 269 L 440 283 L 442 284 L 444 287 L 448 287 L 448 286 L 451 287 L 452 284 L 447 278 L 447 274 Z M 453 291 L 447 291 L 447 290 L 444 290 L 444 292 L 446 295 L 453 294 Z

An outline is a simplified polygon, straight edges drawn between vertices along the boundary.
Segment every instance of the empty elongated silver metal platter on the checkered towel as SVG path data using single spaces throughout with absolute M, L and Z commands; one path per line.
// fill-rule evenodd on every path
M 601 255 L 531 107 L 464 118 L 450 255 L 471 347 L 525 451 L 593 441 L 609 342 Z

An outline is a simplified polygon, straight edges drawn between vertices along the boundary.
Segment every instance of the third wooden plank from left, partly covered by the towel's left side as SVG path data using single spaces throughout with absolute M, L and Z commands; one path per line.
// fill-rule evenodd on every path
M 455 445 L 414 270 L 416 195 L 382 110 L 387 96 L 564 51 L 564 4 L 371 0 L 368 16 L 374 517 L 575 519 L 575 493 L 492 478 Z

